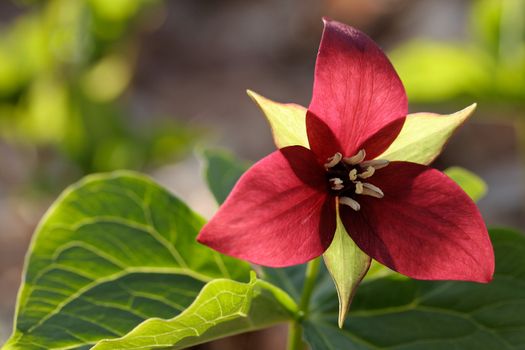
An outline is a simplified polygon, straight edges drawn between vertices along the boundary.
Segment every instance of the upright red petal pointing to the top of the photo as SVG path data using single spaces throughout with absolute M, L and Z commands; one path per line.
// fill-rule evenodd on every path
M 367 159 L 372 159 L 401 131 L 408 111 L 405 89 L 369 37 L 342 23 L 324 22 L 308 109 L 334 131 L 345 156 L 356 154 L 365 140 L 394 125 L 381 142 L 367 144 Z

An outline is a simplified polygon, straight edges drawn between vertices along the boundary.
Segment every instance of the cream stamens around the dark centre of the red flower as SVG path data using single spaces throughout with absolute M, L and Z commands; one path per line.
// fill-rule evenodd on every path
M 343 158 L 339 152 L 328 158 L 324 165 L 326 179 L 332 194 L 338 197 L 339 203 L 348 205 L 358 211 L 358 195 L 383 198 L 383 191 L 364 180 L 372 177 L 376 170 L 388 165 L 388 160 L 374 159 L 365 161 L 364 149 L 352 157 Z

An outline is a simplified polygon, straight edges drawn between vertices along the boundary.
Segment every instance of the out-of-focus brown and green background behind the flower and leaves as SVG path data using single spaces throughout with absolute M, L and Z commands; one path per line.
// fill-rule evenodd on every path
M 245 90 L 308 105 L 322 16 L 384 48 L 411 112 L 478 103 L 435 166 L 480 175 L 487 224 L 525 229 L 523 0 L 0 0 L 0 344 L 56 196 L 135 169 L 212 215 L 195 150 L 274 149 Z M 285 331 L 201 348 L 279 348 Z

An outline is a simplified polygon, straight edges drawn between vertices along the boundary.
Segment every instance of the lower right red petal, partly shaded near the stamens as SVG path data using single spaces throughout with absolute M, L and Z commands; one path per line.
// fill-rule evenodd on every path
M 489 282 L 494 251 L 472 200 L 443 173 L 392 162 L 369 179 L 382 199 L 358 196 L 361 210 L 341 206 L 345 228 L 368 255 L 426 280 Z

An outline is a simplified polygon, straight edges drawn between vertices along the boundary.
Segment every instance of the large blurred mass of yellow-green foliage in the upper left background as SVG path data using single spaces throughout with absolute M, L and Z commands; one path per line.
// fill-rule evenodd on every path
M 173 119 L 134 115 L 125 94 L 137 34 L 148 13 L 162 11 L 160 1 L 16 4 L 22 14 L 0 28 L 4 142 L 51 149 L 75 176 L 142 169 L 189 149 L 197 131 Z

